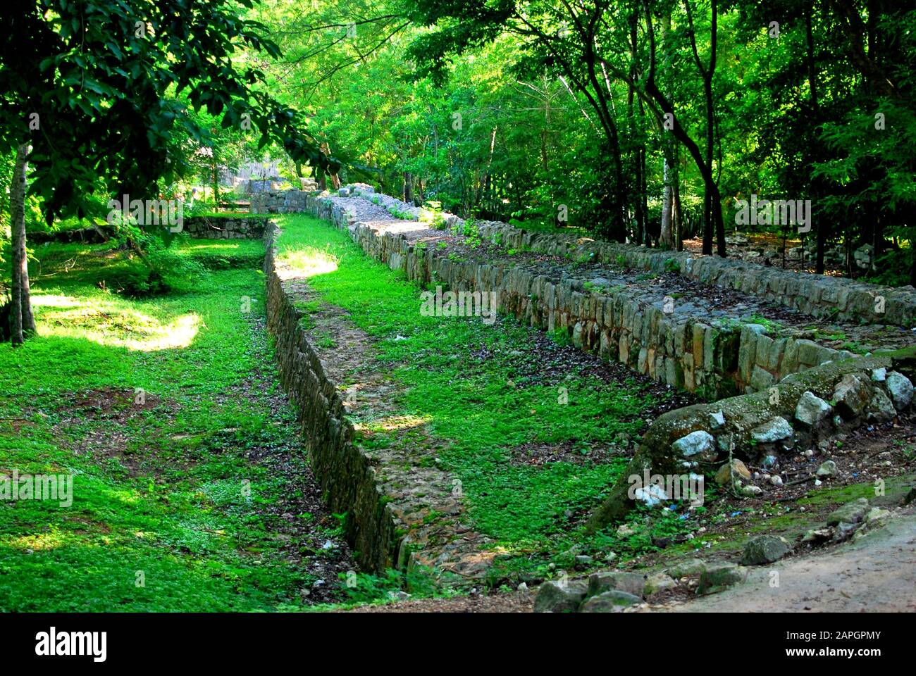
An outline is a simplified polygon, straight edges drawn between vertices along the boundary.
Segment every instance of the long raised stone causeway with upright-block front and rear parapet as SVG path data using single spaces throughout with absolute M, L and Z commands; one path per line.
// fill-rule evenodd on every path
M 566 268 L 540 262 L 531 264 L 526 260 L 515 262 L 511 257 L 496 256 L 493 250 L 487 252 L 485 259 L 475 261 L 450 256 L 437 245 L 442 234 L 448 232 L 443 228 L 451 225 L 458 232 L 464 228 L 461 219 L 442 214 L 438 224 L 432 219 L 421 222 L 418 220 L 424 215 L 421 210 L 378 195 L 368 186 L 347 186 L 333 196 L 311 195 L 307 205 L 311 213 L 349 228 L 369 256 L 392 269 L 402 270 L 420 286 L 496 292 L 499 311 L 550 332 L 566 333 L 583 350 L 617 359 L 641 374 L 707 398 L 762 391 L 792 373 L 855 355 L 806 337 L 818 335 L 803 329 L 805 323 L 816 320 L 797 311 L 787 312 L 797 324 L 795 327 L 784 327 L 778 322 L 766 325 L 736 322 L 732 319 L 736 313 L 770 312 L 753 294 L 729 290 L 731 305 L 722 308 L 704 299 L 702 289 L 697 292 L 697 288 L 684 288 L 683 293 L 673 290 L 681 289 L 684 284 L 696 284 L 691 270 L 699 274 L 703 270 L 725 269 L 729 263 L 738 266 L 735 274 L 758 274 L 768 279 L 782 271 L 763 267 L 750 270 L 745 264 L 718 258 L 714 265 L 707 263 L 713 260 L 712 256 L 684 258 L 681 273 L 667 272 L 667 278 L 662 280 L 664 284 L 660 285 L 652 280 L 640 281 L 632 271 L 595 267 L 591 254 L 597 252 L 597 257 L 603 259 L 611 257 L 609 250 L 600 248 L 604 243 L 589 241 L 583 245 L 584 249 L 570 248 L 573 241 L 562 236 L 532 234 L 505 224 L 482 224 L 479 233 L 490 241 L 500 242 L 504 249 L 541 250 L 547 256 L 562 259 Z M 599 248 L 594 249 L 595 246 Z M 648 269 L 649 277 L 657 274 L 653 270 L 664 267 L 660 265 L 661 256 L 673 260 L 667 254 L 648 249 L 615 246 L 623 252 L 620 256 L 626 258 L 627 266 Z M 594 251 L 587 251 L 590 247 Z M 591 267 L 576 267 L 575 261 L 581 260 L 589 261 Z M 669 267 L 677 266 L 669 263 Z M 717 273 L 715 279 L 721 281 L 733 276 Z M 709 275 L 703 273 L 699 277 L 706 280 Z M 789 285 L 795 277 L 798 277 L 795 273 L 787 272 L 776 286 Z M 667 292 L 669 289 L 683 298 L 674 301 Z M 866 295 L 873 299 L 877 290 L 881 289 L 872 287 Z M 851 291 L 845 289 L 843 293 L 848 295 Z M 820 291 L 817 295 L 832 297 Z M 893 307 L 904 306 L 895 300 Z M 904 310 L 910 312 L 912 308 L 905 306 Z M 913 338 L 907 329 L 896 325 L 882 325 L 873 331 L 869 326 L 841 324 L 838 329 L 844 335 L 858 332 L 876 340 L 889 340 L 889 346 L 910 343 Z

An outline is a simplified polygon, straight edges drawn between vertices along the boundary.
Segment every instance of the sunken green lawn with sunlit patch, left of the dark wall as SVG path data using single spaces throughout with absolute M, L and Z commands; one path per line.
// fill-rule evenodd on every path
M 181 253 L 209 268 L 195 288 L 129 299 L 111 280 L 136 259 L 38 247 L 39 336 L 0 345 L 0 473 L 72 474 L 73 500 L 0 502 L 0 611 L 294 609 L 340 594 L 325 590 L 352 564 L 278 389 L 263 245 Z

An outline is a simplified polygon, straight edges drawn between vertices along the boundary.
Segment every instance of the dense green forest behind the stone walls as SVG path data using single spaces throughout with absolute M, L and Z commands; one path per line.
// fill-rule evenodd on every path
M 60 15 L 104 11 L 81 5 L 61 3 Z M 161 85 L 149 131 L 158 137 L 145 149 L 150 170 L 140 172 L 151 179 L 133 176 L 132 185 L 173 194 L 202 183 L 212 195 L 214 184 L 220 191 L 218 173 L 245 160 L 279 160 L 295 180 L 316 167 L 323 173 L 315 160 L 326 153 L 340 162 L 340 180 L 370 182 L 463 216 L 573 226 L 668 248 L 697 237 L 704 253 L 720 255 L 726 234 L 765 230 L 811 245 L 818 272 L 825 252 L 841 251 L 828 267 L 884 283 L 916 281 L 907 222 L 916 200 L 911 3 L 280 0 L 240 7 L 256 23 L 237 33 L 235 5 L 216 6 L 214 28 L 241 38 L 242 51 L 227 63 L 247 82 L 211 95 L 188 86 L 200 65 L 192 61 L 187 74 L 151 82 L 144 95 Z M 125 9 L 125 19 L 132 12 Z M 33 100 L 55 88 L 64 100 L 70 88 L 77 113 L 106 109 L 114 93 L 123 104 L 129 88 L 120 91 L 116 81 L 130 52 L 108 67 L 118 48 L 103 32 L 88 46 L 62 34 L 56 55 L 49 46 L 47 53 L 30 54 L 34 44 L 19 49 L 16 35 L 6 41 L 0 173 L 7 229 L 16 138 L 34 131 L 10 95 L 22 84 L 16 78 L 27 78 L 17 64 L 28 60 L 40 81 L 52 59 L 63 78 L 29 93 Z M 27 35 L 20 31 L 18 39 Z M 227 49 L 218 40 L 213 47 Z M 107 59 L 93 66 L 99 71 L 90 84 L 77 87 L 89 49 Z M 206 77 L 215 82 L 225 72 Z M 245 105 L 261 111 L 254 118 L 236 105 L 248 82 Z M 265 97 L 274 105 L 269 112 Z M 307 129 L 319 150 L 312 148 L 313 161 L 289 153 L 289 135 L 263 130 L 268 119 Z M 106 142 L 116 147 L 125 139 Z M 73 159 L 40 147 L 33 153 L 39 177 L 43 161 Z M 126 153 L 123 159 L 136 162 Z M 67 202 L 61 193 L 74 189 L 89 195 L 81 213 L 104 215 L 117 180 L 126 178 L 80 168 L 85 181 L 63 177 L 71 182 L 49 200 L 56 179 L 48 171 L 53 180 L 39 180 L 27 201 L 29 227 L 75 213 L 59 210 Z M 806 223 L 743 223 L 740 201 L 752 199 L 807 204 Z M 852 256 L 861 245 L 874 247 L 866 270 Z

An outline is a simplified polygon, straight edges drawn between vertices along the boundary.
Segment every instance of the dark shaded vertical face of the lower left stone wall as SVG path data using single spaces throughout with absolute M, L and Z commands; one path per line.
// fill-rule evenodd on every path
M 398 563 L 396 525 L 382 500 L 369 459 L 354 446 L 354 429 L 344 402 L 322 368 L 300 325 L 300 313 L 283 290 L 274 252 L 276 226 L 265 235 L 267 328 L 277 339 L 280 382 L 300 417 L 311 469 L 335 512 L 346 512 L 345 535 L 369 570 L 384 572 Z

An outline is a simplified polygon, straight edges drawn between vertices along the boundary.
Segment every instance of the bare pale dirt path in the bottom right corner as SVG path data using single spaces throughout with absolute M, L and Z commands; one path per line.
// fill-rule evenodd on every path
M 888 526 L 831 551 L 754 568 L 747 583 L 655 612 L 916 611 L 916 507 Z M 779 586 L 771 587 L 772 572 Z

